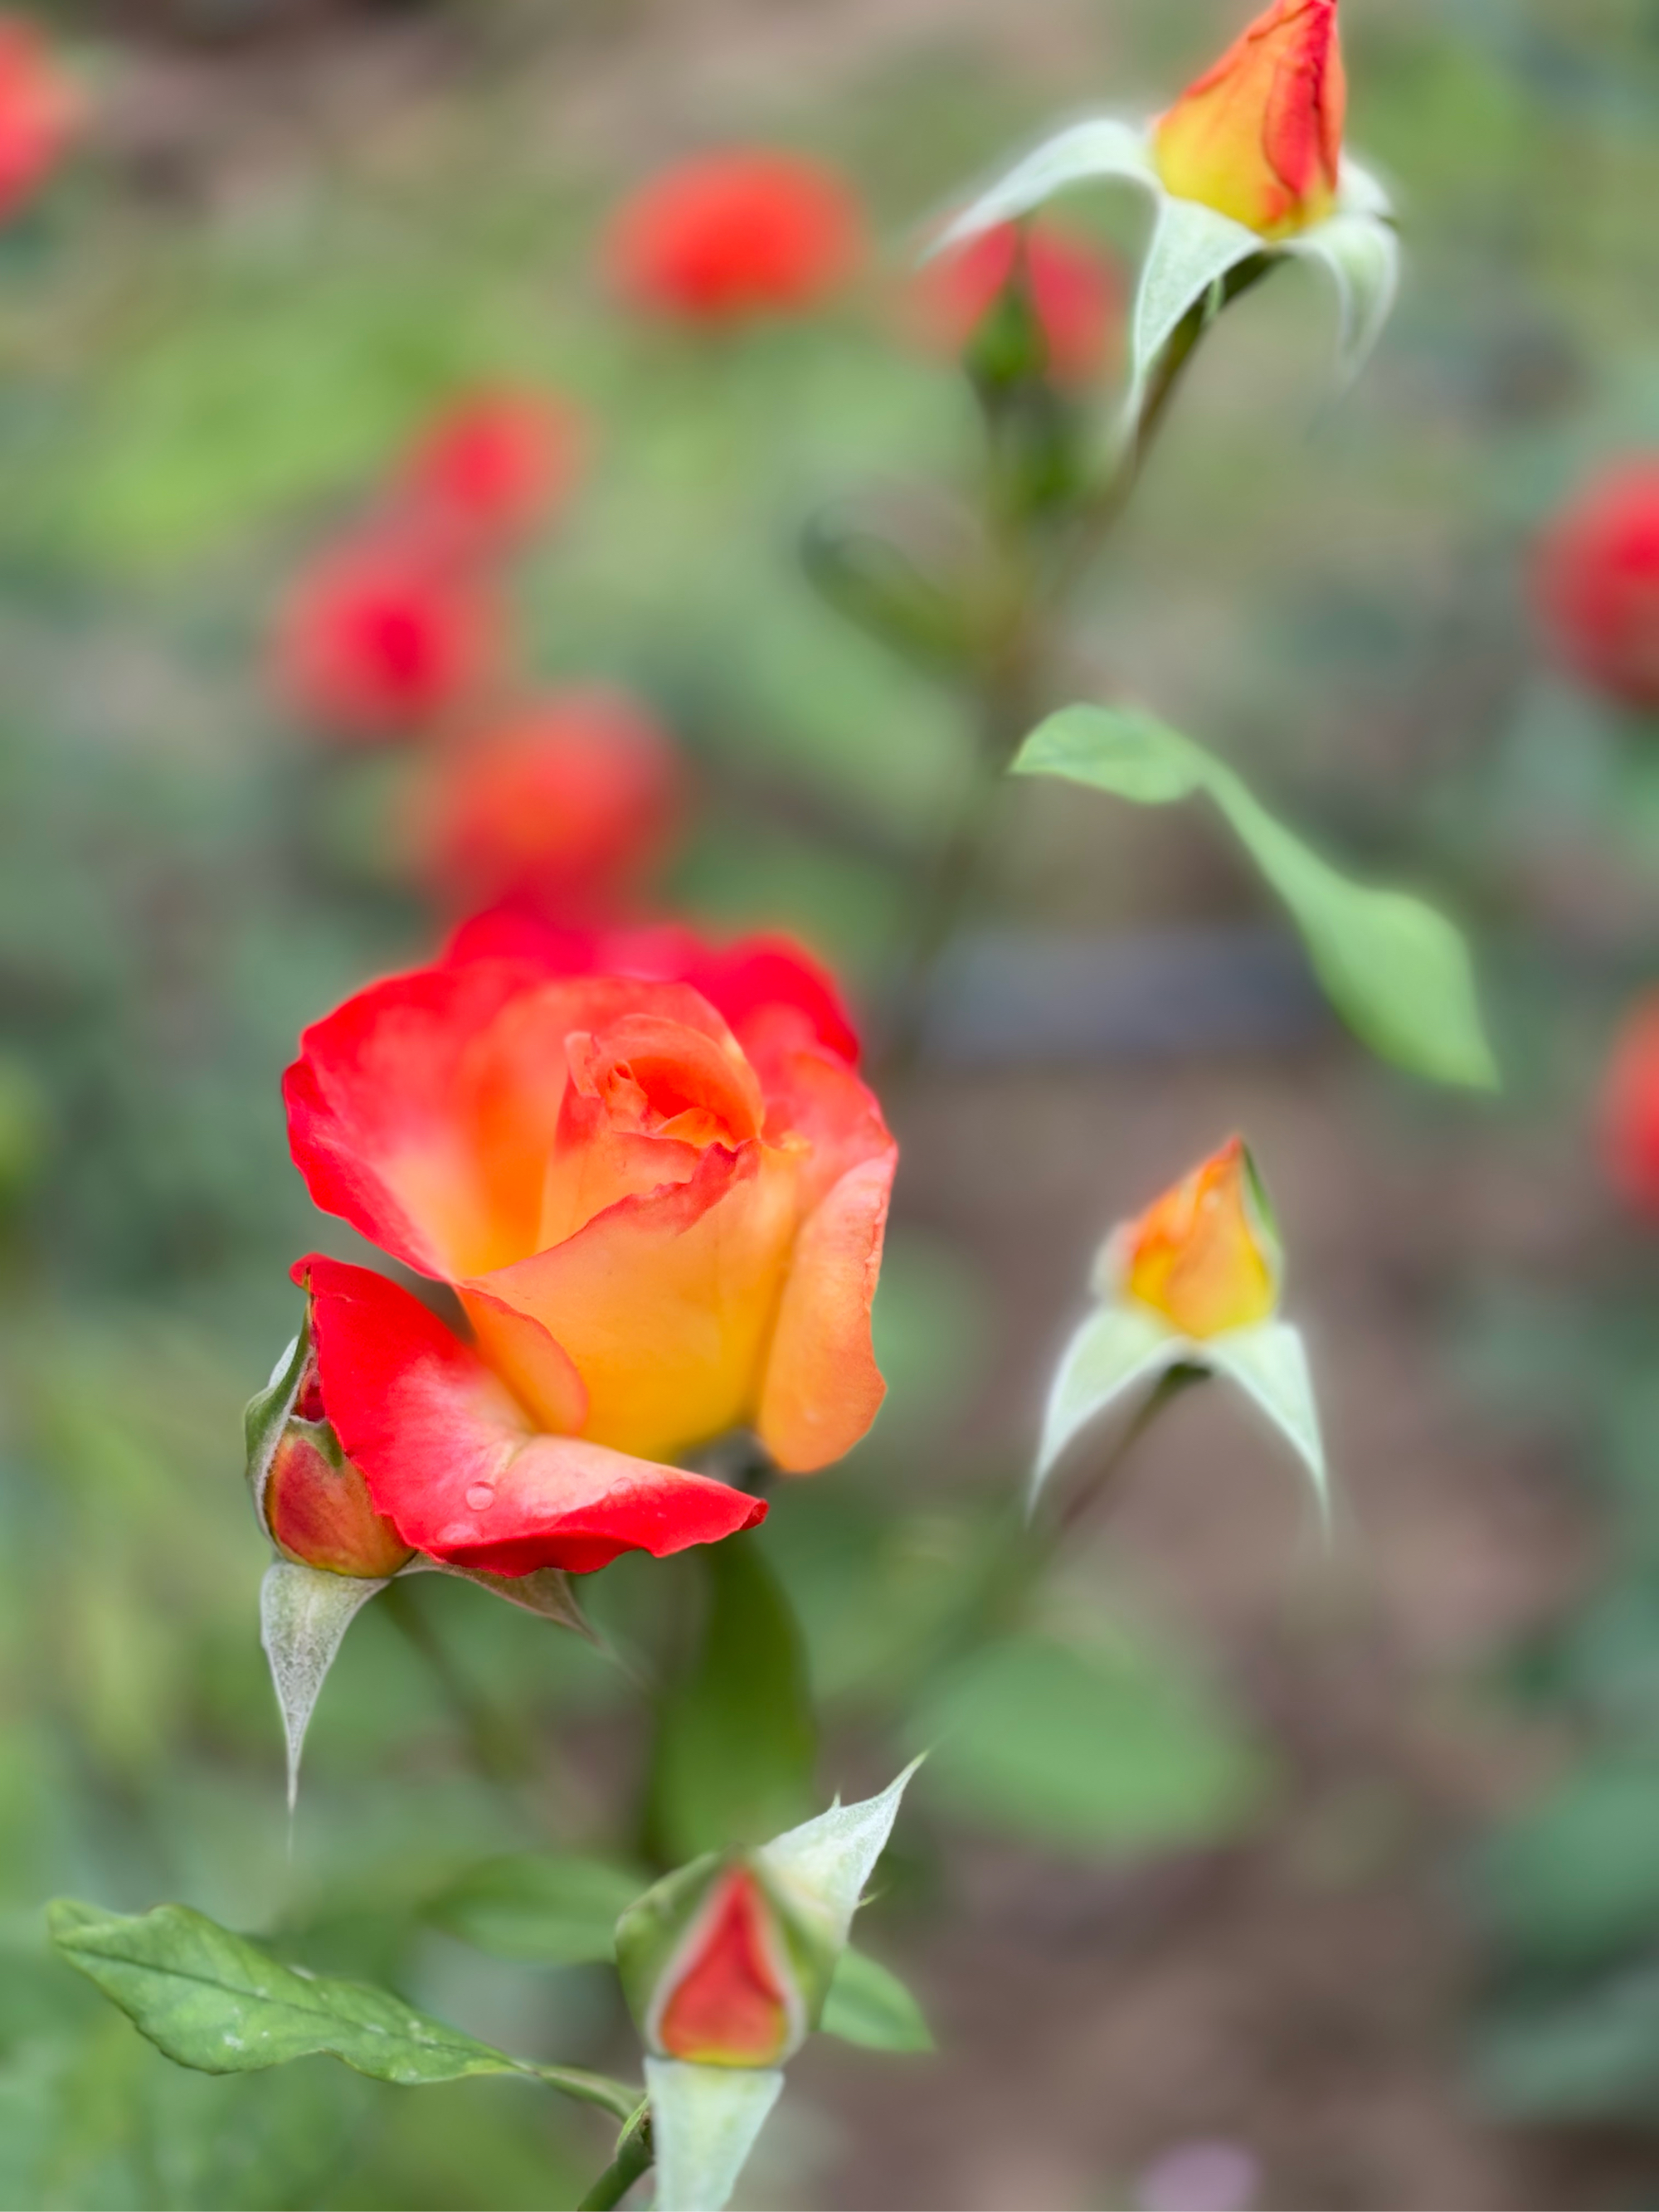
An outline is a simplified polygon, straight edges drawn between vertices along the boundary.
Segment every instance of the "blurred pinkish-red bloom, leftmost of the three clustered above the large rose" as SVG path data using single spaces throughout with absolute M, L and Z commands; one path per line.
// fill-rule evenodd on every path
M 276 681 L 319 730 L 396 739 L 460 708 L 493 672 L 491 595 L 425 538 L 372 531 L 323 553 L 276 628 Z

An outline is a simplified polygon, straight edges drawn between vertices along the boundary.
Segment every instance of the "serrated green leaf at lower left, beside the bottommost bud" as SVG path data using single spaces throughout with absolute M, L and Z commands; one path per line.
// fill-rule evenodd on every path
M 259 2073 L 290 2059 L 334 2057 L 403 2088 L 471 2075 L 529 2075 L 617 2119 L 637 2101 L 602 2075 L 507 2057 L 385 1989 L 283 1966 L 188 1905 L 104 1913 L 58 1898 L 46 1907 L 46 1931 L 139 2035 L 197 2073 Z

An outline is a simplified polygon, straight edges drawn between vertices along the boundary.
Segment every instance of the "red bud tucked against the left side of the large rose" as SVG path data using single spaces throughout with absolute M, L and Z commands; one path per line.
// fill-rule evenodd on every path
M 392 1522 L 374 1511 L 363 1475 L 327 1422 L 310 1327 L 248 1407 L 246 1425 L 254 1511 L 285 1559 L 383 1582 L 414 1557 Z

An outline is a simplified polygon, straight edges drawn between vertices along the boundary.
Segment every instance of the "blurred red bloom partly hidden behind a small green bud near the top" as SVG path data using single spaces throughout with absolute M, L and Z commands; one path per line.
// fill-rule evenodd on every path
M 1104 254 L 1046 223 L 1026 228 L 1024 241 L 1020 223 L 998 223 L 927 261 L 916 279 L 925 334 L 960 354 L 1013 283 L 1022 252 L 1051 378 L 1091 383 L 1117 352 L 1124 285 Z

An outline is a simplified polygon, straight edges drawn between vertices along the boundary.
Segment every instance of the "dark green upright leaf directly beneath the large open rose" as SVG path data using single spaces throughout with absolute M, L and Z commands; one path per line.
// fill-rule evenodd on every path
M 648 1827 L 668 1865 L 765 1843 L 814 1796 L 818 1739 L 787 1593 L 754 1535 L 706 1546 L 699 1564 L 703 1641 L 664 1699 L 650 1774 Z

